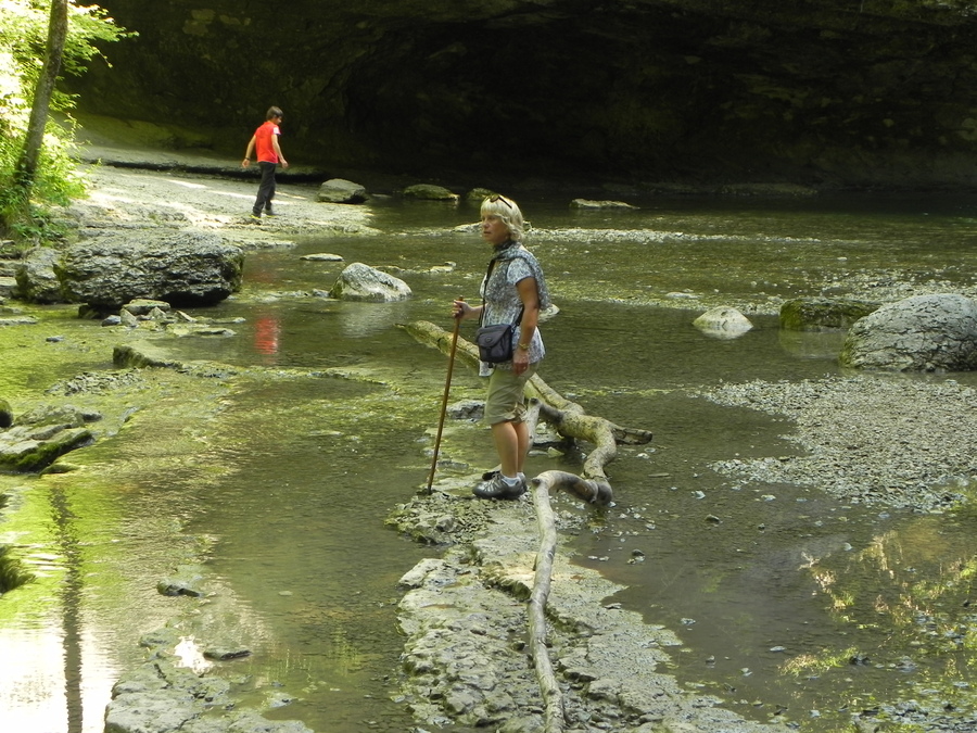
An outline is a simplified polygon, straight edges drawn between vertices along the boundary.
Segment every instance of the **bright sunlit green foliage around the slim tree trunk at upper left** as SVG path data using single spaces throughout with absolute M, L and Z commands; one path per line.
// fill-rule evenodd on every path
M 24 243 L 46 243 L 59 232 L 47 206 L 67 203 L 84 193 L 75 172 L 72 142 L 75 125 L 69 116 L 72 96 L 55 91 L 51 110 L 66 122 L 48 119 L 37 175 L 29 193 L 16 186 L 16 165 L 30 118 L 34 87 L 43 67 L 48 37 L 48 0 L 0 0 L 0 237 Z M 98 42 L 129 34 L 115 25 L 98 5 L 68 5 L 68 33 L 62 72 L 80 74 L 101 55 Z

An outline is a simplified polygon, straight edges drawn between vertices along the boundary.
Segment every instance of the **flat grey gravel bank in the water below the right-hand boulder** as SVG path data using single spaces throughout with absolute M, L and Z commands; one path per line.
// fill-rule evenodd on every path
M 962 501 L 977 473 L 977 391 L 954 379 L 864 374 L 751 381 L 701 394 L 721 405 L 788 417 L 795 430 L 785 438 L 807 452 L 712 465 L 741 480 L 815 486 L 845 502 L 932 511 Z

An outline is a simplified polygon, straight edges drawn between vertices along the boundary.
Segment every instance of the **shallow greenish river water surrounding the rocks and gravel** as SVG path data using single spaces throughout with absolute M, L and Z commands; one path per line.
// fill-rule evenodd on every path
M 840 334 L 779 331 L 783 299 L 847 294 L 851 282 L 889 298 L 900 282 L 929 280 L 973 294 L 977 204 L 697 198 L 574 213 L 562 199 L 517 198 L 560 307 L 542 327 L 541 376 L 589 414 L 655 433 L 608 467 L 612 508 L 555 500 L 588 515 L 572 543 L 578 560 L 626 586 L 608 603 L 673 629 L 683 646 L 672 672 L 745 717 L 786 710 L 800 730 L 821 732 L 911 699 L 974 710 L 973 514 L 845 504 L 721 476 L 711 463 L 798 448 L 784 439 L 789 422 L 696 392 L 840 374 Z M 244 291 L 191 312 L 242 320 L 232 338 L 182 340 L 179 356 L 268 369 L 216 394 L 216 418 L 183 420 L 179 394 L 168 395 L 165 418 L 137 416 L 87 450 L 110 468 L 88 480 L 84 501 L 71 479 L 0 477 L 0 493 L 14 497 L 0 543 L 16 544 L 39 574 L 0 599 L 0 729 L 101 731 L 113 681 L 141 658 L 139 636 L 187 601 L 156 593 L 161 573 L 204 556 L 224 599 L 214 623 L 243 630 L 252 650 L 226 669 L 261 683 L 261 695 L 269 681 L 281 691 L 264 700 L 268 717 L 332 733 L 410 730 L 396 699 L 396 581 L 436 549 L 384 519 L 426 482 L 446 363 L 397 325 L 449 328 L 451 300 L 477 299 L 486 245 L 455 230 L 477 220 L 472 207 L 392 199 L 372 208 L 382 235 L 249 253 Z M 320 252 L 344 263 L 300 258 Z M 328 290 L 351 262 L 403 268 L 394 274 L 414 296 L 378 305 L 302 295 Z M 426 271 L 446 262 L 454 269 Z M 691 320 L 713 305 L 740 307 L 754 328 L 705 336 Z M 18 338 L 64 333 L 85 352 L 85 329 L 98 326 L 71 315 L 52 309 Z M 10 338 L 4 346 L 15 347 Z M 79 365 L 111 368 L 111 353 L 85 352 L 71 361 Z M 275 376 L 292 367 L 369 379 Z M 0 377 L 0 387 L 23 394 L 71 376 L 62 371 L 55 362 Z M 482 386 L 459 366 L 452 394 L 478 399 Z M 487 432 L 449 426 L 444 451 L 474 469 L 494 464 Z M 557 467 L 578 464 L 534 454 L 528 472 Z

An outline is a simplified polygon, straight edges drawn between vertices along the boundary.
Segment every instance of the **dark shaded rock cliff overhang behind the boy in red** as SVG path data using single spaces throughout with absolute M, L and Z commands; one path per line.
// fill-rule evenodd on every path
M 240 156 L 423 174 L 977 182 L 961 0 L 105 0 L 80 110 Z

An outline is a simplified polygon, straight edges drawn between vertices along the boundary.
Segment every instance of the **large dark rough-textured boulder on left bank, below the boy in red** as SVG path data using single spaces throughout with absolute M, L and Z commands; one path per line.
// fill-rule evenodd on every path
M 54 263 L 65 299 L 113 309 L 140 298 L 173 305 L 218 303 L 241 288 L 243 268 L 240 248 L 189 229 L 90 239 Z

